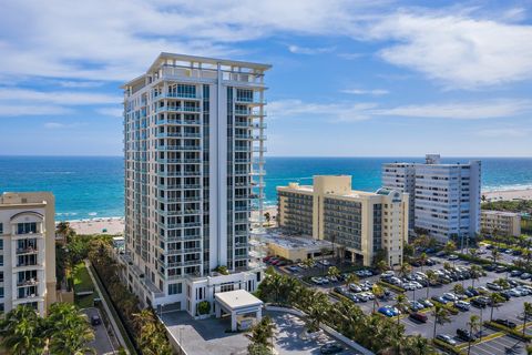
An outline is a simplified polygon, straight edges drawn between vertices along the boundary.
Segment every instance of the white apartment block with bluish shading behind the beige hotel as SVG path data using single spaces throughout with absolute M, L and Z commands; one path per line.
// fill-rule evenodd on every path
M 411 231 L 422 230 L 441 242 L 480 231 L 480 161 L 442 164 L 440 155 L 428 154 L 423 164 L 387 163 L 382 185 L 413 193 Z

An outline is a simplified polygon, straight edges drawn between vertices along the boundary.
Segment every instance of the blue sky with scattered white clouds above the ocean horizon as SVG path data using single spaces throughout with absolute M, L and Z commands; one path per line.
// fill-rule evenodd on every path
M 121 155 L 165 51 L 273 64 L 268 155 L 532 155 L 532 1 L 0 6 L 0 154 Z

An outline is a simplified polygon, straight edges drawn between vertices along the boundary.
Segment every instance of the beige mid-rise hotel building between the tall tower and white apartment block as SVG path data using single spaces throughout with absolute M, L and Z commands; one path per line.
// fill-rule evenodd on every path
M 314 176 L 314 185 L 277 187 L 279 226 L 291 234 L 326 240 L 344 256 L 370 265 L 380 250 L 389 265 L 402 263 L 408 242 L 408 194 L 351 190 L 351 176 Z

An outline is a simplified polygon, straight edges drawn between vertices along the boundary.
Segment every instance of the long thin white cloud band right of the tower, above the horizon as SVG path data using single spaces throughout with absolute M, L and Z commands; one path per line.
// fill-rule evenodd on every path
M 379 116 L 415 119 L 483 120 L 514 116 L 532 112 L 532 101 L 500 100 L 494 102 L 454 102 L 382 108 L 377 103 L 315 103 L 282 100 L 268 104 L 272 116 L 304 119 L 317 116 L 329 121 L 362 121 Z

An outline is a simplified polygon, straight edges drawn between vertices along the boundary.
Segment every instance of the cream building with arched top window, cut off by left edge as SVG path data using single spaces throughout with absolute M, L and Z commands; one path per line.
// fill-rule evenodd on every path
M 55 205 L 47 192 L 0 195 L 0 311 L 55 302 Z

